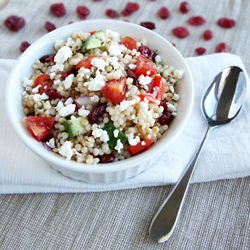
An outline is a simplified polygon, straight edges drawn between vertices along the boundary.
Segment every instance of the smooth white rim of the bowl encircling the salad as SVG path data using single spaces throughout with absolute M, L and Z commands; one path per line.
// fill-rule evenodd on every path
M 18 67 L 21 67 L 20 65 L 22 65 L 23 62 L 25 62 L 27 55 L 29 55 L 30 51 L 32 51 L 37 45 L 39 45 L 40 43 L 51 43 L 52 45 L 56 42 L 56 39 L 54 39 L 54 37 L 56 37 L 56 34 L 60 34 L 61 32 L 63 32 L 64 30 L 69 29 L 70 27 L 75 27 L 75 26 L 79 26 L 82 24 L 83 26 L 87 26 L 89 23 L 103 23 L 105 22 L 108 25 L 110 25 L 110 29 L 112 30 L 112 24 L 116 23 L 116 24 L 121 24 L 123 26 L 127 26 L 128 28 L 132 29 L 139 29 L 140 31 L 142 31 L 143 33 L 149 33 L 152 36 L 154 36 L 157 39 L 162 40 L 164 43 L 168 44 L 169 47 L 171 47 L 171 49 L 173 49 L 177 55 L 177 57 L 179 57 L 179 59 L 181 60 L 184 68 L 182 68 L 185 72 L 185 77 L 187 77 L 187 82 L 189 83 L 189 89 L 190 89 L 190 99 L 189 99 L 189 107 L 186 111 L 183 117 L 183 120 L 181 122 L 181 124 L 179 124 L 178 129 L 176 129 L 175 133 L 172 133 L 172 135 L 168 138 L 168 140 L 158 140 L 157 143 L 155 143 L 152 147 L 150 147 L 149 150 L 146 150 L 145 152 L 142 152 L 138 155 L 135 155 L 133 157 L 127 158 L 127 159 L 123 159 L 120 161 L 116 161 L 116 162 L 111 162 L 111 163 L 98 163 L 96 165 L 90 165 L 90 164 L 86 164 L 86 163 L 78 163 L 76 161 L 73 160 L 66 160 L 65 158 L 55 154 L 55 153 L 51 153 L 49 151 L 47 151 L 45 148 L 44 150 L 41 150 L 41 148 L 38 146 L 38 143 L 40 144 L 40 142 L 37 142 L 36 140 L 34 140 L 33 137 L 28 137 L 27 136 L 27 131 L 25 131 L 25 128 L 22 124 L 22 122 L 17 122 L 15 119 L 15 114 L 12 113 L 12 99 L 11 99 L 11 89 L 12 87 L 15 85 L 15 83 L 13 82 L 13 79 L 15 78 L 15 71 L 17 71 Z M 81 31 L 79 29 L 79 31 Z M 72 33 L 76 32 L 74 29 L 72 29 Z M 53 39 L 50 39 L 53 38 Z M 46 41 L 47 40 L 47 41 Z M 25 65 L 25 64 L 24 64 Z M 21 94 L 21 93 L 20 93 Z M 155 157 L 155 155 L 159 154 L 159 151 L 162 152 L 163 150 L 159 150 L 161 147 L 163 147 L 164 149 L 167 148 L 167 146 L 169 146 L 169 144 L 172 143 L 172 141 L 183 131 L 183 128 L 185 127 L 188 118 L 191 115 L 191 111 L 192 111 L 192 107 L 194 104 L 194 83 L 193 83 L 193 78 L 192 78 L 192 74 L 190 72 L 190 69 L 184 59 L 184 57 L 181 55 L 181 53 L 167 40 L 165 39 L 163 36 L 161 36 L 160 34 L 153 32 L 149 29 L 146 29 L 138 24 L 133 24 L 133 23 L 129 23 L 129 22 L 125 22 L 125 21 L 120 21 L 120 20 L 107 20 L 107 19 L 94 19 L 94 20 L 87 20 L 87 21 L 80 21 L 80 22 L 75 22 L 73 24 L 68 24 L 68 25 L 64 25 L 52 32 L 49 32 L 45 35 L 43 35 L 42 37 L 40 37 L 39 39 L 37 39 L 33 44 L 31 44 L 31 46 L 18 58 L 16 65 L 14 66 L 14 68 L 11 70 L 10 72 L 10 76 L 8 78 L 7 81 L 7 87 L 6 87 L 6 91 L 5 91 L 5 104 L 6 104 L 6 110 L 7 110 L 7 115 L 9 120 L 11 121 L 11 125 L 14 128 L 15 133 L 18 135 L 18 137 L 21 139 L 21 141 L 29 148 L 31 149 L 36 155 L 38 155 L 39 157 L 41 157 L 42 159 L 44 159 L 45 161 L 48 161 L 49 163 L 51 163 L 52 165 L 59 165 L 60 168 L 64 168 L 67 170 L 74 170 L 77 172 L 81 172 L 81 173 L 98 173 L 98 174 L 102 174 L 102 173 L 108 173 L 108 172 L 118 172 L 124 169 L 128 169 L 128 168 L 133 168 L 133 166 L 141 164 L 142 162 L 145 162 L 146 160 L 149 160 L 152 157 Z M 145 163 L 146 164 L 146 163 Z

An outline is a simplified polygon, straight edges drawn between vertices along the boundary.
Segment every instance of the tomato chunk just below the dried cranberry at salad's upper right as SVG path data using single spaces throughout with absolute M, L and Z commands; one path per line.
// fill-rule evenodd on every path
M 136 61 L 136 67 L 134 72 L 137 76 L 139 75 L 152 76 L 157 72 L 157 68 L 153 63 L 153 61 L 151 61 L 150 59 L 148 59 L 143 55 L 140 55 Z

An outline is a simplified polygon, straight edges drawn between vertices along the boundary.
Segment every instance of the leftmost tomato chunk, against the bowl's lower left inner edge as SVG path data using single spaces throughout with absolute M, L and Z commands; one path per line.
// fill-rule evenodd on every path
M 24 123 L 31 135 L 37 141 L 42 141 L 50 135 L 55 119 L 53 117 L 29 116 L 24 119 Z

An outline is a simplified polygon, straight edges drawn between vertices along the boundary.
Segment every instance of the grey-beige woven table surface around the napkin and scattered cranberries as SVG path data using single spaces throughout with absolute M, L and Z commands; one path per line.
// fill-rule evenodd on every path
M 121 10 L 127 1 L 63 1 L 68 10 L 63 18 L 48 13 L 53 2 L 11 0 L 0 9 L 1 58 L 17 58 L 21 41 L 33 42 L 46 33 L 46 20 L 58 27 L 79 20 L 75 14 L 78 4 L 87 5 L 89 19 L 95 19 L 104 18 L 106 8 Z M 176 43 L 184 56 L 193 56 L 199 46 L 213 53 L 218 42 L 226 41 L 250 71 L 250 1 L 192 0 L 188 15 L 178 13 L 180 1 L 137 2 L 140 11 L 129 19 L 136 23 L 153 20 L 155 31 Z M 163 5 L 172 14 L 166 21 L 155 16 Z M 26 18 L 22 31 L 11 33 L 2 25 L 11 14 Z M 198 14 L 205 16 L 207 23 L 204 28 L 191 28 L 189 39 L 178 40 L 170 34 L 174 26 Z M 215 22 L 222 16 L 236 19 L 237 26 L 233 30 L 218 28 Z M 214 30 L 215 38 L 204 42 L 200 34 L 207 27 Z M 250 249 L 249 177 L 192 185 L 175 234 L 159 245 L 149 239 L 147 230 L 170 190 L 165 186 L 88 194 L 1 195 L 0 249 Z

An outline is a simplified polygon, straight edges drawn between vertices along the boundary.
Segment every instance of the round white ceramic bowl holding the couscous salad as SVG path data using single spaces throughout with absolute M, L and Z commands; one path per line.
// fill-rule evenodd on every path
M 73 32 L 111 29 L 122 35 L 134 37 L 136 40 L 146 39 L 152 49 L 157 49 L 168 65 L 173 65 L 184 70 L 184 78 L 178 83 L 177 92 L 181 99 L 178 105 L 178 116 L 173 120 L 169 129 L 149 150 L 133 156 L 129 159 L 97 164 L 95 166 L 67 161 L 55 153 L 48 152 L 44 146 L 37 142 L 23 126 L 24 118 L 22 110 L 22 81 L 24 77 L 32 75 L 32 65 L 41 56 L 51 53 L 57 40 L 63 40 L 71 36 Z M 53 168 L 62 174 L 76 180 L 89 183 L 115 183 L 138 175 L 157 159 L 157 155 L 169 146 L 174 140 L 178 140 L 178 134 L 184 128 L 193 106 L 194 88 L 193 80 L 188 65 L 184 58 L 167 40 L 139 25 L 123 21 L 91 20 L 70 24 L 46 34 L 34 42 L 18 59 L 12 70 L 7 84 L 6 108 L 12 126 L 21 140 L 38 156 L 47 161 Z M 181 152 L 180 152 L 181 153 Z M 35 166 L 34 166 L 35 167 Z M 152 166 L 153 167 L 153 166 Z

